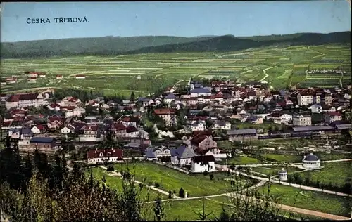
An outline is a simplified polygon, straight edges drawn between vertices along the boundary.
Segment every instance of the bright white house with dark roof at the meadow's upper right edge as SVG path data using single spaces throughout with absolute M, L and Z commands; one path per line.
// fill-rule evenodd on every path
M 191 172 L 203 173 L 215 171 L 215 157 L 212 155 L 194 156 L 191 158 Z

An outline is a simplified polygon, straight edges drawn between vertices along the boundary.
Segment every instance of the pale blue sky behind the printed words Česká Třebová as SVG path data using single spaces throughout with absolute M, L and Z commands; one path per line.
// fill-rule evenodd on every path
M 89 22 L 56 23 L 54 18 Z M 27 24 L 27 18 L 50 23 Z M 1 42 L 105 36 L 236 37 L 351 31 L 351 5 L 330 1 L 1 3 Z

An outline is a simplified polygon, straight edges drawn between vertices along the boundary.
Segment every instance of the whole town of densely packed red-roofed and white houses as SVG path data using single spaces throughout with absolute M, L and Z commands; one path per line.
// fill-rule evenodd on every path
M 259 181 L 254 188 L 272 180 L 299 184 L 302 190 L 351 195 L 350 182 L 330 182 L 323 190 L 310 178 L 291 176 L 324 169 L 325 162 L 352 159 L 351 86 L 268 88 L 260 82 L 190 79 L 161 95 L 135 98 L 132 93 L 125 100 L 74 95 L 58 99 L 51 89 L 1 95 L 2 141 L 17 141 L 23 155 L 65 152 L 70 164 L 99 166 L 106 172 L 113 164 L 137 159 L 136 166 L 170 168 L 184 176 L 237 172 Z M 334 159 L 327 159 L 332 154 Z M 161 190 L 160 183 L 165 182 L 149 181 L 156 192 L 172 193 Z M 176 192 L 169 198 L 180 198 Z M 184 190 L 182 197 L 201 194 L 211 193 Z

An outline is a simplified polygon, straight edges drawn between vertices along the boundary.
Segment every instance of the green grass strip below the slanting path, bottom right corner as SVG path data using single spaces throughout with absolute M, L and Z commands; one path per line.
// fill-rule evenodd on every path
M 266 186 L 259 188 L 258 191 L 268 194 L 268 188 Z M 321 211 L 327 214 L 351 216 L 352 202 L 348 200 L 348 197 L 301 190 L 299 188 L 279 184 L 271 185 L 270 194 L 275 195 L 277 200 L 284 205 Z

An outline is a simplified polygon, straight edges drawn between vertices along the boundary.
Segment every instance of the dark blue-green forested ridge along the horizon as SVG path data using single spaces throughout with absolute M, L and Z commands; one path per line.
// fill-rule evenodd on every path
M 183 51 L 237 51 L 262 46 L 351 44 L 351 32 L 298 33 L 258 37 L 92 37 L 1 43 L 1 58 L 70 55 L 123 55 Z

